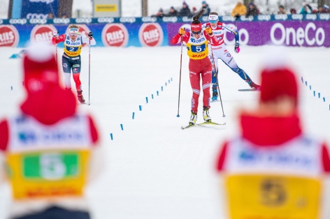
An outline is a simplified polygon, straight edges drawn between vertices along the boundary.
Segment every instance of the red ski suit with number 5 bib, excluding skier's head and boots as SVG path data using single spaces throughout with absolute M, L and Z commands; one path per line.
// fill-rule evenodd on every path
M 212 80 L 212 64 L 208 59 L 208 42 L 217 41 L 215 36 L 208 36 L 206 31 L 201 31 L 199 38 L 191 32 L 184 35 L 176 34 L 171 40 L 172 44 L 185 42 L 189 56 L 189 77 L 192 86 L 192 112 L 197 112 L 199 94 L 201 93 L 201 80 L 203 88 L 203 107 L 210 108 L 210 84 Z

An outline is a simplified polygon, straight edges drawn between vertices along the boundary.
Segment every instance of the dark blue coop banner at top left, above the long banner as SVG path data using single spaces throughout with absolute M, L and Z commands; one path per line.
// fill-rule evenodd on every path
M 46 19 L 48 13 L 57 17 L 59 0 L 22 0 L 22 18 Z

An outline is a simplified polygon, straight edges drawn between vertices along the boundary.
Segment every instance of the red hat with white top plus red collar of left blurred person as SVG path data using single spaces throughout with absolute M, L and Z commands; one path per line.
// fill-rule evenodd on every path
M 50 43 L 30 45 L 23 58 L 24 87 L 27 98 L 21 104 L 24 114 L 52 125 L 76 112 L 76 98 L 59 84 L 55 49 Z

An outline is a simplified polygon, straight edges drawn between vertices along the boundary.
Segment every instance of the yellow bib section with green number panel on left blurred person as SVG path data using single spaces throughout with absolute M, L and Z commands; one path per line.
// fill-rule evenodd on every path
M 88 150 L 12 153 L 7 156 L 14 199 L 81 196 Z

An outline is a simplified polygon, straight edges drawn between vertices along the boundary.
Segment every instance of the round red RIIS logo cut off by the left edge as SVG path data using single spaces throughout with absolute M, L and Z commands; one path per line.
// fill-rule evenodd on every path
M 0 26 L 0 47 L 16 47 L 20 35 L 13 25 Z

